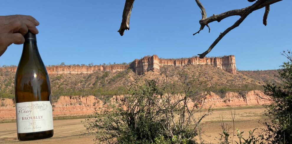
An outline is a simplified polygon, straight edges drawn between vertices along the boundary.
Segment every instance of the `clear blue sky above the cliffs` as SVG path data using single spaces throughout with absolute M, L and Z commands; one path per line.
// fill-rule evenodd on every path
M 199 34 L 201 13 L 194 0 L 136 0 L 130 30 L 120 36 L 124 0 L 1 1 L 0 15 L 35 17 L 37 45 L 45 65 L 129 63 L 146 55 L 160 58 L 192 57 L 203 53 L 238 16 L 210 23 Z M 247 0 L 201 0 L 207 16 L 251 5 Z M 239 70 L 277 69 L 292 48 L 291 0 L 270 6 L 268 25 L 264 9 L 250 14 L 229 32 L 207 56 L 235 55 Z M 0 66 L 18 65 L 22 45 L 11 45 L 0 57 Z

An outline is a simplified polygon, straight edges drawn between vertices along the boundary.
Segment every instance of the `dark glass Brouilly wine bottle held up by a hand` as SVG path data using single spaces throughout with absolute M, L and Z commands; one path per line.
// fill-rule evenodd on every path
M 53 136 L 50 80 L 37 49 L 36 35 L 24 35 L 22 55 L 15 74 L 18 140 Z

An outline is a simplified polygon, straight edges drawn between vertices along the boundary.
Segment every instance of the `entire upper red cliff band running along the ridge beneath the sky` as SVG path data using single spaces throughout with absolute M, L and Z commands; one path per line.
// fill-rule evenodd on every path
M 184 66 L 184 65 L 212 65 L 223 69 L 228 73 L 236 74 L 234 55 L 218 58 L 185 58 L 185 59 L 159 59 L 157 55 L 145 56 L 142 59 L 135 59 L 130 65 L 109 65 L 109 66 L 49 66 L 49 74 L 80 74 L 93 73 L 95 71 L 124 71 L 131 68 L 138 75 L 146 74 L 148 71 L 159 71 L 162 66 Z M 0 71 L 16 72 L 17 67 L 0 68 Z

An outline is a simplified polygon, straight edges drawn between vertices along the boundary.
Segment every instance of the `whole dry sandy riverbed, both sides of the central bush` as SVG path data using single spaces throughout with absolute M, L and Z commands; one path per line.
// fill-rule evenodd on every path
M 244 137 L 248 136 L 248 131 L 254 128 L 263 127 L 258 123 L 259 120 L 264 121 L 262 113 L 264 108 L 246 108 L 235 110 L 235 127 L 239 128 Z M 232 110 L 234 112 L 234 109 Z M 198 113 L 199 114 L 199 113 Z M 233 123 L 230 109 L 215 110 L 213 114 L 207 116 L 202 121 L 204 134 L 202 138 L 205 143 L 217 143 L 221 130 L 222 117 L 226 124 L 231 128 L 229 132 L 233 133 Z M 0 143 L 17 143 L 17 144 L 90 144 L 93 142 L 93 136 L 81 136 L 85 132 L 83 119 L 73 120 L 54 120 L 54 136 L 52 138 L 33 141 L 18 141 L 16 134 L 16 123 L 1 123 L 0 124 Z M 235 133 L 236 134 L 236 133 Z M 217 138 L 216 138 L 217 137 Z M 234 140 L 238 141 L 237 136 Z

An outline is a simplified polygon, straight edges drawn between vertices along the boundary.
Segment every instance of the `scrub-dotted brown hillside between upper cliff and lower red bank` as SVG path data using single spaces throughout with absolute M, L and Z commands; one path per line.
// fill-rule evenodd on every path
M 225 93 L 246 92 L 254 89 L 264 90 L 258 81 L 245 76 L 243 73 L 236 75 L 209 65 L 166 66 L 169 71 L 169 82 L 178 80 L 179 73 L 185 71 L 188 75 L 198 75 L 200 80 L 212 87 L 211 91 L 224 97 Z M 0 71 L 0 97 L 14 98 L 14 75 L 10 71 Z M 50 75 L 53 100 L 62 95 L 94 95 L 112 96 L 129 94 L 127 89 L 135 81 L 143 82 L 144 79 L 155 79 L 161 85 L 162 79 L 159 72 L 147 72 L 137 75 L 131 69 L 119 72 L 96 71 L 94 73 Z

